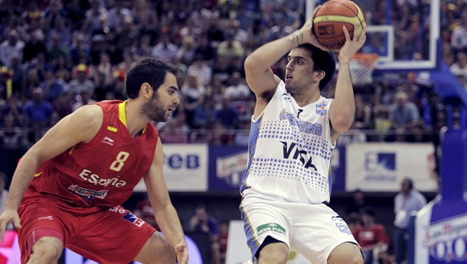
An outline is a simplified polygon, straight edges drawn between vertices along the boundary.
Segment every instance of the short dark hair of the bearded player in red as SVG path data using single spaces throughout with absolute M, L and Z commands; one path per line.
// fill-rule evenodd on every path
M 141 85 L 148 82 L 154 91 L 164 83 L 167 73 L 177 75 L 178 71 L 175 66 L 168 64 L 154 57 L 143 57 L 138 59 L 127 72 L 125 79 L 125 89 L 127 90 L 128 98 L 138 97 Z

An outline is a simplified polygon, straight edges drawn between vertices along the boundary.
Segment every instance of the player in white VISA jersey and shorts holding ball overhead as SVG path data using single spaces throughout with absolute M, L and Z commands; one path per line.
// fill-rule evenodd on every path
M 347 223 L 326 205 L 331 153 L 338 134 L 354 120 L 349 62 L 366 40 L 366 28 L 354 38 L 344 31 L 333 99 L 320 91 L 336 62 L 312 34 L 311 18 L 245 59 L 247 84 L 257 102 L 240 211 L 255 263 L 286 263 L 290 251 L 312 263 L 364 263 Z M 282 81 L 271 66 L 286 54 Z

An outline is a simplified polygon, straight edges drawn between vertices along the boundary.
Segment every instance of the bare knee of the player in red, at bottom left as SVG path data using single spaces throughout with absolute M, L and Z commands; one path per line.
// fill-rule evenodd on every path
M 32 247 L 28 264 L 57 263 L 62 255 L 62 242 L 56 238 L 41 238 Z

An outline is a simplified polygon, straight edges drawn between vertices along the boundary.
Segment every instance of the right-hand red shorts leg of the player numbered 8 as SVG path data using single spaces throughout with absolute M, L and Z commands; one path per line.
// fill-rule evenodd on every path
M 155 228 L 117 206 L 80 217 L 79 229 L 66 247 L 99 263 L 133 261 Z

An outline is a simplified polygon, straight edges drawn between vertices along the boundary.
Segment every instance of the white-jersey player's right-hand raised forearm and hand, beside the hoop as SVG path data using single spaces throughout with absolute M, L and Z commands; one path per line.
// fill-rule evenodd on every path
M 357 27 L 357 25 L 355 25 Z M 364 45 L 366 40 L 366 26 L 359 36 L 350 38 L 349 31 L 343 26 L 345 44 L 339 50 L 339 71 L 336 81 L 334 101 L 329 108 L 329 119 L 333 130 L 344 133 L 354 122 L 355 101 L 352 81 L 350 80 L 350 60 Z

